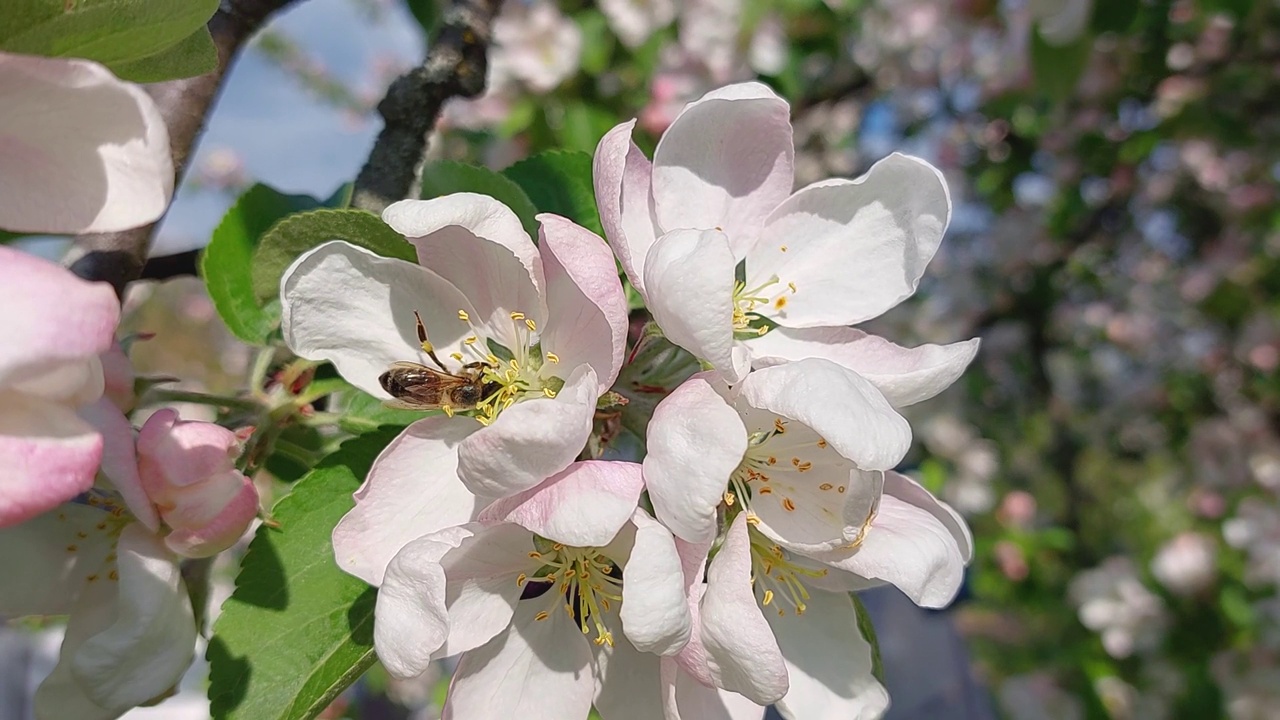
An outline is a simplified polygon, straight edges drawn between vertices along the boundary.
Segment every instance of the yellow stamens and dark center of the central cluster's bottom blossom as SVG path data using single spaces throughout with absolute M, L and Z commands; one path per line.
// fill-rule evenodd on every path
M 541 561 L 543 566 L 532 578 L 521 574 L 516 582 L 521 587 L 526 582 L 547 583 L 548 589 L 556 584 L 556 592 L 564 597 L 564 612 L 581 628 L 582 634 L 591 634 L 594 628 L 593 642 L 613 647 L 613 633 L 605 626 L 603 614 L 614 602 L 622 601 L 622 571 L 617 564 L 595 547 L 568 547 L 543 538 L 538 538 L 535 543 L 547 550 L 531 551 L 529 556 Z M 525 598 L 538 597 L 544 592 L 547 589 L 526 588 Z M 549 616 L 544 610 L 535 619 L 545 620 Z

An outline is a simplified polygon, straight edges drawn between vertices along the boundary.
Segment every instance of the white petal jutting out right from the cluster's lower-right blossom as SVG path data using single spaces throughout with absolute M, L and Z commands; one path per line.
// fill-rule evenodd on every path
M 923 488 L 886 474 L 884 496 L 861 546 L 815 553 L 813 559 L 891 583 L 923 607 L 945 607 L 960 592 L 969 542 L 966 533 L 957 532 L 955 519 Z

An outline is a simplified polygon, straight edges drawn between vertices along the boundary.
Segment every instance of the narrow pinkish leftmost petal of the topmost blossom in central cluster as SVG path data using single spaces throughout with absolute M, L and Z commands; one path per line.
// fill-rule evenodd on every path
M 635 124 L 635 120 L 622 123 L 600 138 L 591 177 L 604 237 L 643 296 L 645 256 L 660 233 L 649 195 L 653 164 L 631 141 Z

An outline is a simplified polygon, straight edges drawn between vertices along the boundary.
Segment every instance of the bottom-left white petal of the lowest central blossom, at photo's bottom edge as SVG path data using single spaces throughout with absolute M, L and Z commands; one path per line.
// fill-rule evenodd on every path
M 522 602 L 511 628 L 462 656 L 443 720 L 586 720 L 595 682 L 591 651 L 558 605 Z

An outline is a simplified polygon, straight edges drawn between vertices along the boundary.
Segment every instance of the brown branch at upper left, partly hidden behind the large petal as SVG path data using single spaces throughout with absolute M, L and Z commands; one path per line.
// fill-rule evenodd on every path
M 196 146 L 209 113 L 221 91 L 227 70 L 241 47 L 276 10 L 296 0 L 221 0 L 221 6 L 209 20 L 209 32 L 218 47 L 218 68 L 207 74 L 155 83 L 147 92 L 160 108 L 169 127 L 169 149 L 180 184 L 187 172 L 191 151 Z M 113 233 L 82 234 L 76 238 L 70 269 L 77 275 L 106 281 L 116 295 L 138 278 L 147 259 L 147 250 L 159 220 L 148 225 Z

